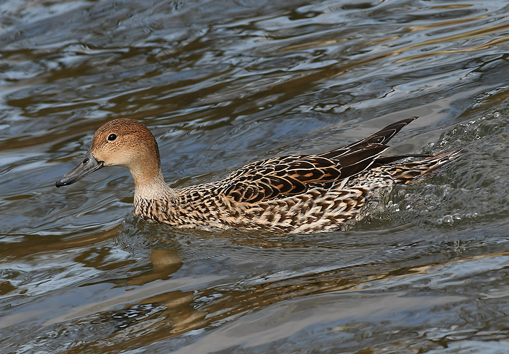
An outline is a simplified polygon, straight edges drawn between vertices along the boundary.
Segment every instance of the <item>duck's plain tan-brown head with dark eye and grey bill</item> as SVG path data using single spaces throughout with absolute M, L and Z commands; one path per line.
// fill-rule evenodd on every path
M 116 119 L 100 127 L 87 154 L 79 165 L 56 181 L 56 187 L 67 186 L 103 166 L 127 167 L 134 184 L 149 184 L 161 173 L 159 149 L 150 130 L 132 119 Z

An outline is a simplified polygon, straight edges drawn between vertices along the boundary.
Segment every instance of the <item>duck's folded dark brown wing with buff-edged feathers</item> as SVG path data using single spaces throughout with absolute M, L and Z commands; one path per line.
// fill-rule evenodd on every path
M 349 178 L 380 157 L 388 142 L 416 117 L 321 155 L 291 155 L 250 163 L 223 181 L 219 192 L 235 201 L 255 203 L 304 193 L 317 185 Z

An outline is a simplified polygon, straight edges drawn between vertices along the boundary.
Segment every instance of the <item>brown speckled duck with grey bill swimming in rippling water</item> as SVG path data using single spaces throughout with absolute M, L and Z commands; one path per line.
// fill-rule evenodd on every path
M 55 186 L 71 185 L 104 166 L 122 166 L 134 180 L 134 214 L 146 221 L 204 230 L 327 232 L 355 221 L 377 191 L 422 180 L 460 156 L 460 150 L 382 156 L 389 140 L 417 118 L 322 154 L 255 161 L 223 180 L 178 189 L 164 181 L 150 130 L 120 118 L 95 132 L 81 162 Z

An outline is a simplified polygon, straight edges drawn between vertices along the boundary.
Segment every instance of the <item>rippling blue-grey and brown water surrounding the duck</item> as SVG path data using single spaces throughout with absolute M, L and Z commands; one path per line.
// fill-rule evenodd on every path
M 0 353 L 506 353 L 505 1 L 0 3 Z M 54 182 L 118 116 L 173 187 L 421 118 L 392 153 L 464 149 L 347 231 L 204 232 L 132 215 L 104 168 Z

